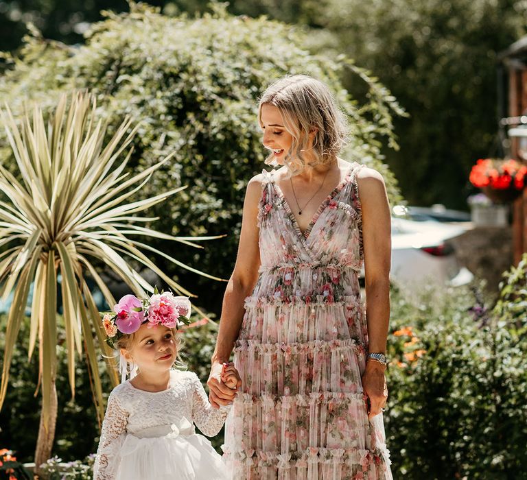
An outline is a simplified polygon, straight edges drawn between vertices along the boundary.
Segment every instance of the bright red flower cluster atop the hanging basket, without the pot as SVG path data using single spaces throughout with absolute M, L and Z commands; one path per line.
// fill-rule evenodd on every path
M 469 180 L 474 187 L 491 187 L 497 190 L 522 190 L 527 179 L 527 167 L 517 160 L 478 160 L 470 171 Z

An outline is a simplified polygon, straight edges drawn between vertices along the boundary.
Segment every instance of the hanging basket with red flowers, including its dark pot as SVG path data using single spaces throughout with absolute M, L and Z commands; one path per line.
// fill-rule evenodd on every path
M 527 167 L 512 158 L 480 158 L 472 167 L 469 180 L 493 202 L 513 202 L 525 187 Z

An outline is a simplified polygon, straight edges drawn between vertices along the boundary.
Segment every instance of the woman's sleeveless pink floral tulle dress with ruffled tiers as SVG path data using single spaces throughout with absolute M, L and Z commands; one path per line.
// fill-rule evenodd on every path
M 235 345 L 242 392 L 223 446 L 233 479 L 392 478 L 382 414 L 368 420 L 361 383 L 361 167 L 350 165 L 305 232 L 264 171 L 261 267 Z

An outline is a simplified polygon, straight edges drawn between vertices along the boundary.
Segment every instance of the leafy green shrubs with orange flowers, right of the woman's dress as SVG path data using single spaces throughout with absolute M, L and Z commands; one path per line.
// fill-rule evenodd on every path
M 527 478 L 525 331 L 469 289 L 425 291 L 417 302 L 394 291 L 391 330 L 394 477 Z

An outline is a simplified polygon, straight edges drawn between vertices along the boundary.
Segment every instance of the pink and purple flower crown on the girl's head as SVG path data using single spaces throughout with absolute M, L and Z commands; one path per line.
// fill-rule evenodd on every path
M 150 298 L 140 300 L 134 295 L 125 295 L 113 307 L 113 312 L 103 313 L 102 325 L 106 331 L 106 343 L 117 348 L 117 341 L 123 335 L 137 332 L 139 327 L 148 323 L 148 328 L 157 324 L 168 328 L 188 325 L 190 320 L 190 300 L 176 297 L 170 291 L 157 291 Z

